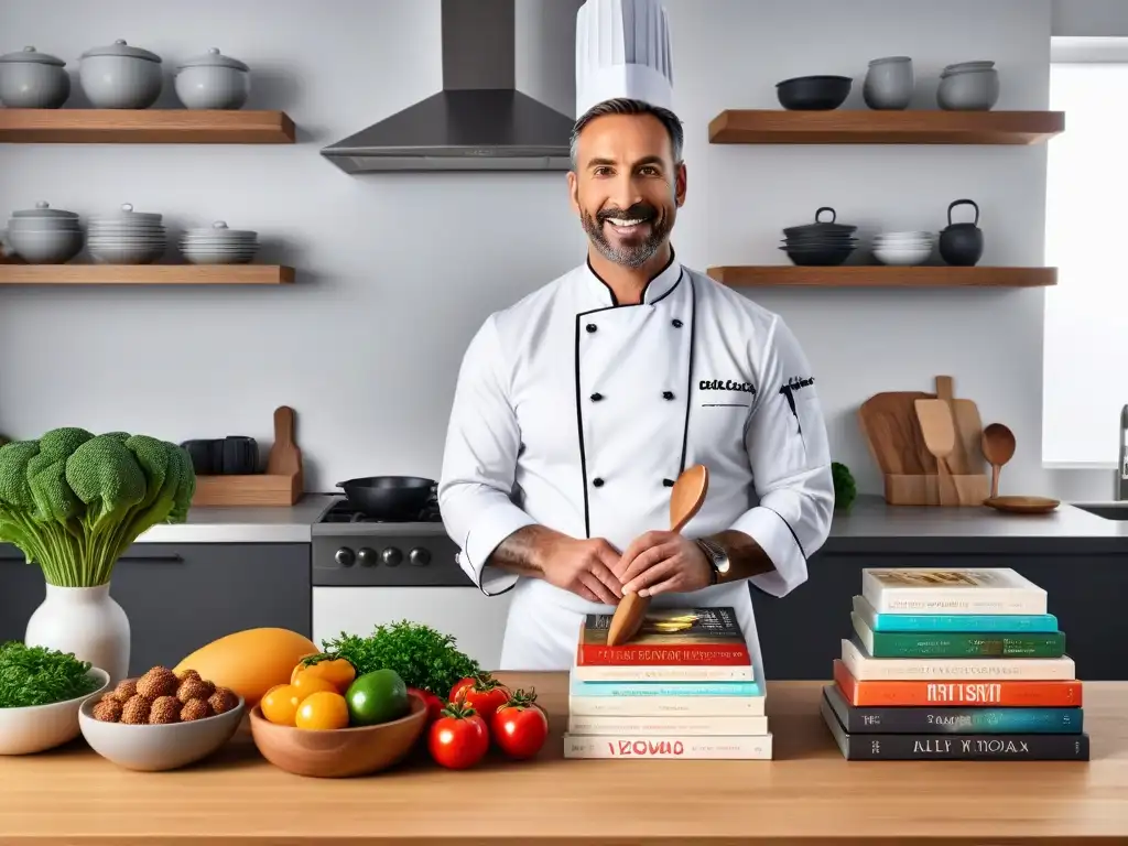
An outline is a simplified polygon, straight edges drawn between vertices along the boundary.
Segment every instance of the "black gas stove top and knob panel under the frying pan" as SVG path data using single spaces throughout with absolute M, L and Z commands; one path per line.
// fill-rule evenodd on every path
M 434 497 L 402 520 L 335 501 L 312 526 L 314 587 L 473 587 Z

